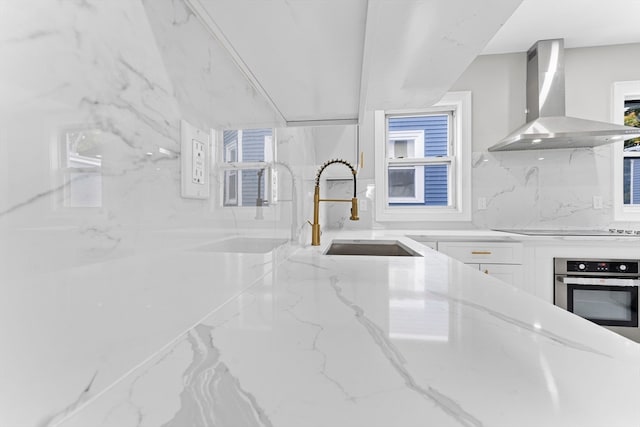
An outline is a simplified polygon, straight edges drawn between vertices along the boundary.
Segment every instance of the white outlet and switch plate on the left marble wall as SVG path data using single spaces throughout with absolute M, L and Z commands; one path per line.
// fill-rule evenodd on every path
M 182 197 L 209 198 L 210 143 L 209 135 L 201 129 L 180 122 L 182 157 Z

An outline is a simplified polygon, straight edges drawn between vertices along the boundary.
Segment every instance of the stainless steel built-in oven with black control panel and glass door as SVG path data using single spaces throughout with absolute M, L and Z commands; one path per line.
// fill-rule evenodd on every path
M 553 303 L 640 342 L 640 261 L 554 258 Z

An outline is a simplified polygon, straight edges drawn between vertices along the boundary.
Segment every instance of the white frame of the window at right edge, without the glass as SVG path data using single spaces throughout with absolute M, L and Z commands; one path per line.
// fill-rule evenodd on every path
M 624 102 L 640 99 L 640 80 L 613 83 L 611 121 L 624 124 Z M 640 221 L 640 205 L 624 204 L 624 141 L 613 145 L 613 219 L 614 221 Z

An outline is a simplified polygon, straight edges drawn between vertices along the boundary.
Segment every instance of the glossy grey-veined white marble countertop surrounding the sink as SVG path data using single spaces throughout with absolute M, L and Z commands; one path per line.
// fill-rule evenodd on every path
M 327 256 L 365 234 L 325 234 L 49 425 L 638 425 L 638 344 L 397 232 L 366 236 L 423 256 Z

